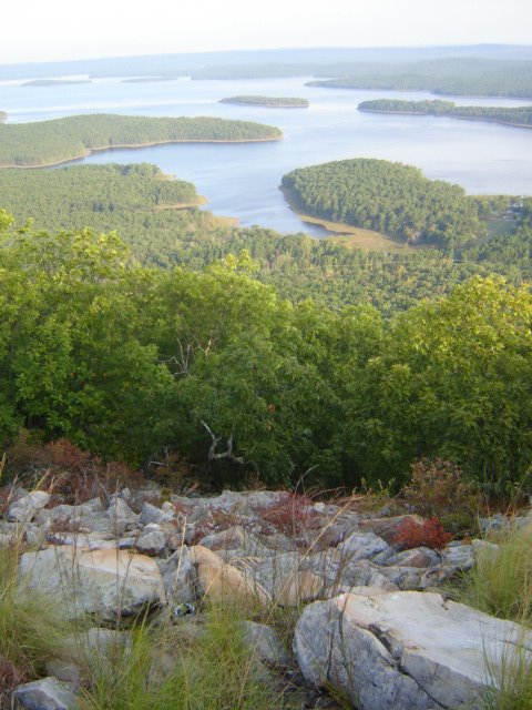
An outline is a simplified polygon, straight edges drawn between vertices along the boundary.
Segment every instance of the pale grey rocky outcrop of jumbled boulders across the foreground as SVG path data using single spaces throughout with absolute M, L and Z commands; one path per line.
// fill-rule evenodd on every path
M 224 491 L 162 503 L 153 484 L 75 506 L 52 507 L 47 496 L 17 490 L 0 518 L 0 545 L 31 546 L 20 560 L 21 592 L 27 586 L 51 594 L 71 618 L 89 613 L 109 626 L 161 610 L 157 619 L 194 635 L 202 632 L 205 599 L 267 609 L 267 618 L 280 607 L 307 605 L 294 637 L 306 682 L 318 691 L 337 686 L 359 710 L 454 710 L 464 703 L 475 710 L 490 683 L 487 669 L 497 674 L 523 639 L 532 653 L 530 637 L 515 625 L 423 591 L 497 546 L 473 540 L 438 551 L 400 549 L 397 531 L 405 519 L 422 523 L 419 516 L 367 518 L 348 507 L 304 501 L 294 520 L 286 494 Z M 197 623 L 186 623 L 184 617 L 197 610 Z M 248 620 L 245 637 L 265 672 L 301 678 L 274 629 Z M 105 648 L 119 642 L 126 649 L 129 639 L 125 631 L 91 629 L 84 658 L 105 662 Z M 52 703 L 42 707 L 68 707 L 65 687 L 57 682 L 65 681 L 71 694 L 84 682 L 79 650 L 65 648 L 50 659 L 55 680 L 39 681 L 35 691 L 29 683 L 25 694 L 21 686 L 19 704 L 31 708 L 40 698 Z M 52 699 L 42 700 L 43 693 Z

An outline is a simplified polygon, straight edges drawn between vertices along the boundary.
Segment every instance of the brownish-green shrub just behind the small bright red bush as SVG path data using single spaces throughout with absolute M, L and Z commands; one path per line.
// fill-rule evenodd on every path
M 411 466 L 401 496 L 409 509 L 424 518 L 438 517 L 453 534 L 474 529 L 480 507 L 478 485 L 461 468 L 441 458 L 422 458 Z

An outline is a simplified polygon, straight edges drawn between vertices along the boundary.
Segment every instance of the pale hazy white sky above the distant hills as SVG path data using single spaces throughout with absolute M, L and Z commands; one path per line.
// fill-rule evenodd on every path
M 7 0 L 0 63 L 278 47 L 532 43 L 531 0 Z

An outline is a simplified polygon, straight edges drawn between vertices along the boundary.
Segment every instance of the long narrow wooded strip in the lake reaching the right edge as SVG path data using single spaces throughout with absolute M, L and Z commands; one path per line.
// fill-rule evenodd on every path
M 359 111 L 370 113 L 412 113 L 420 115 L 447 115 L 472 121 L 490 121 L 520 128 L 532 126 L 532 106 L 457 106 L 453 101 L 401 101 L 376 99 L 362 101 Z

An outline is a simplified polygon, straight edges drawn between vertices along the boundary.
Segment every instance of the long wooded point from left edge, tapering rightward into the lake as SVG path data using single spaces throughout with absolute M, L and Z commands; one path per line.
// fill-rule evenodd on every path
M 278 128 L 250 121 L 200 118 L 73 115 L 0 124 L 0 168 L 39 168 L 112 148 L 157 143 L 253 142 L 283 138 Z

